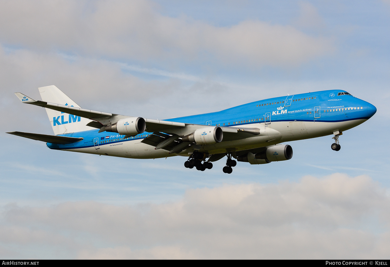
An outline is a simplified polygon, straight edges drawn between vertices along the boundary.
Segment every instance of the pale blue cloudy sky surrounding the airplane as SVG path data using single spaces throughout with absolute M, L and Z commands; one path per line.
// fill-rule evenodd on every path
M 390 2 L 1 1 L 0 258 L 390 258 Z M 40 100 L 167 119 L 346 90 L 377 107 L 285 162 L 137 160 L 8 135 L 53 134 Z

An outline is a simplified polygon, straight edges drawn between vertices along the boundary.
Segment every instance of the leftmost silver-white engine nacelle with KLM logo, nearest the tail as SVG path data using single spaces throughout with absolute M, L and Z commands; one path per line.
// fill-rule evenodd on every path
M 145 132 L 146 122 L 141 117 L 128 117 L 120 119 L 117 123 L 105 127 L 106 132 L 115 132 L 125 135 L 137 135 Z

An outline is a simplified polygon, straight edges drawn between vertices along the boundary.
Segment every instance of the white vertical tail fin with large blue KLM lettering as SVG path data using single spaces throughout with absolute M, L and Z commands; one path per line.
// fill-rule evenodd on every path
M 64 94 L 57 86 L 50 85 L 38 88 L 41 98 L 45 102 L 69 105 L 72 107 L 80 107 L 73 100 L 71 100 L 67 95 Z M 53 109 L 46 109 L 48 114 L 51 127 L 53 127 L 53 132 L 55 135 L 64 134 L 64 133 L 76 133 L 92 130 L 94 128 L 87 126 L 92 120 L 87 118 L 82 118 L 80 116 L 74 116 L 72 114 L 63 113 L 60 111 L 55 111 Z

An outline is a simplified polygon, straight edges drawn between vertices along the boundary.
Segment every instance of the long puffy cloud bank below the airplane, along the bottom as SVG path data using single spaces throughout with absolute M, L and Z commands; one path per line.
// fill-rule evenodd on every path
M 1 227 L 29 238 L 6 230 L 0 243 L 78 258 L 388 258 L 389 208 L 369 177 L 307 176 L 188 190 L 167 204 L 9 206 Z

